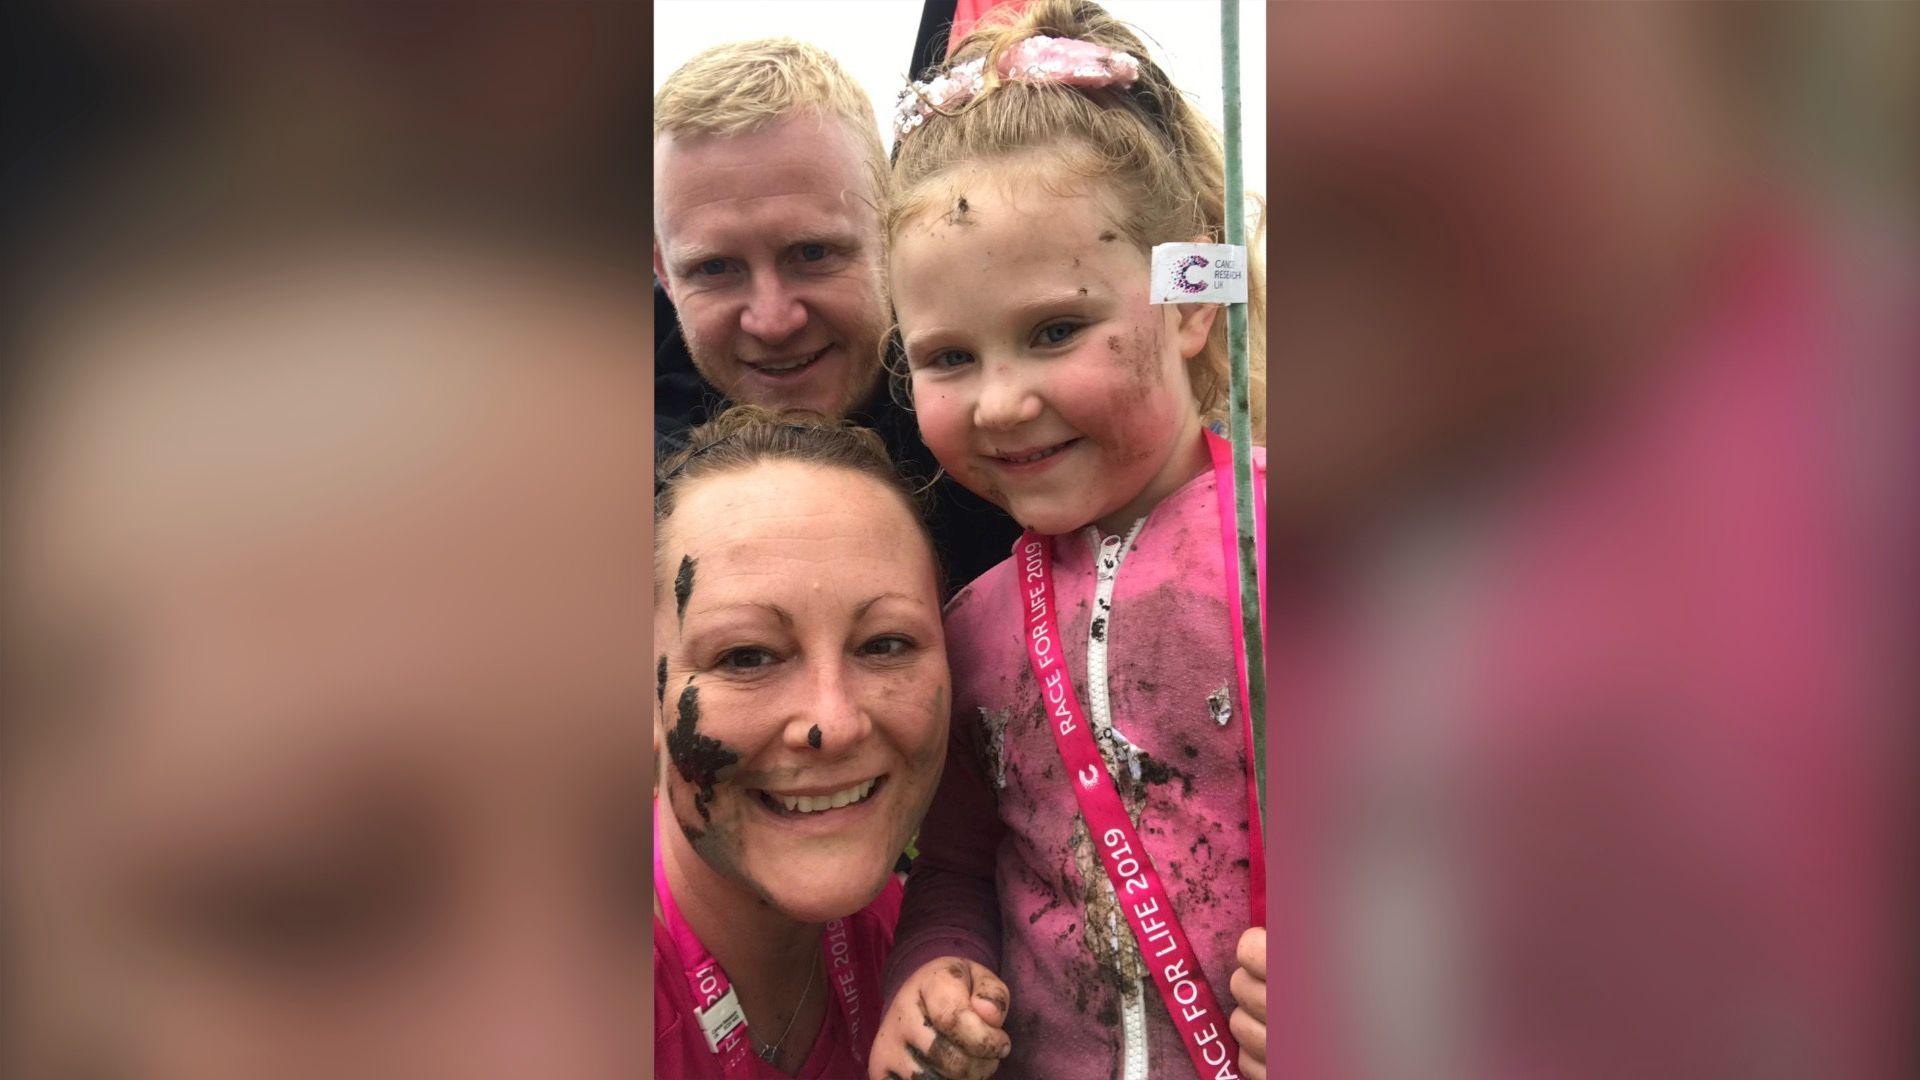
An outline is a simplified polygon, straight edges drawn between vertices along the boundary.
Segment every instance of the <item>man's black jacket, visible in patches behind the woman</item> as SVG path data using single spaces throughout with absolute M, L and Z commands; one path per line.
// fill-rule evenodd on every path
M 693 369 L 693 356 L 680 334 L 674 302 L 660 282 L 653 284 L 653 452 L 655 461 L 685 446 L 691 429 L 720 415 L 728 402 Z M 918 488 L 939 469 L 933 452 L 920 442 L 914 415 L 895 404 L 887 386 L 849 419 L 879 432 L 887 455 Z M 1020 527 L 1000 507 L 943 477 L 933 486 L 933 546 L 947 573 L 947 594 L 977 578 L 1014 550 Z

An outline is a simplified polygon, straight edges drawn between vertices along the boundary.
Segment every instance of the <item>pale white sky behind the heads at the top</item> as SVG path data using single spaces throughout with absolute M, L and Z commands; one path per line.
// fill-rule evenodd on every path
M 1131 23 L 1173 83 L 1221 125 L 1219 6 L 1213 0 L 1102 0 Z M 874 98 L 893 148 L 893 106 L 920 29 L 922 0 L 655 0 L 653 88 L 703 48 L 793 37 L 833 54 Z M 1240 173 L 1267 190 L 1267 6 L 1240 2 Z

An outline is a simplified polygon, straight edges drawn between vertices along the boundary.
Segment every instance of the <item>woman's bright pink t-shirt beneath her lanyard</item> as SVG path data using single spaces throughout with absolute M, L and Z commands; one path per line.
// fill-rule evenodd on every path
M 806 1065 L 801 1067 L 801 1080 L 862 1080 L 866 1076 L 868 1045 L 854 1047 L 847 1009 L 860 1011 L 862 1042 L 872 1043 L 874 1028 L 885 1009 L 879 999 L 879 972 L 893 949 L 893 924 L 900 919 L 900 882 L 889 876 L 887 888 L 849 920 L 849 940 L 852 942 L 852 1001 L 843 999 L 841 990 L 828 982 L 831 995 L 828 1019 L 820 1026 Z M 720 1059 L 707 1049 L 707 1036 L 693 1009 L 693 992 L 687 988 L 685 959 L 674 947 L 672 936 L 659 919 L 653 920 L 653 1074 L 660 1080 L 707 1080 L 724 1076 Z M 858 1053 L 856 1053 L 858 1051 Z M 785 1078 L 772 1065 L 749 1055 L 753 1076 L 766 1080 Z

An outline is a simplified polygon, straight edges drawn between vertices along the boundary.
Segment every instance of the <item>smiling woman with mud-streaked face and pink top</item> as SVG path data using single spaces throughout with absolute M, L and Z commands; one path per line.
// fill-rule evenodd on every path
M 735 407 L 660 477 L 655 1067 L 864 1076 L 947 746 L 933 546 L 851 425 Z

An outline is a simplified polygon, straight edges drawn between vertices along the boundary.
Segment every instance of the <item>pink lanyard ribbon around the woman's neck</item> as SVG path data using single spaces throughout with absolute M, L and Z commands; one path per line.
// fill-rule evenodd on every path
M 733 984 L 728 982 L 720 961 L 707 951 L 699 934 L 687 926 L 674 903 L 674 890 L 666 882 L 666 867 L 660 859 L 660 805 L 655 803 L 653 894 L 660 897 L 660 920 L 685 965 L 682 970 L 687 976 L 687 990 L 693 992 L 695 1019 L 701 1022 L 701 1032 L 707 1034 L 707 1049 L 720 1059 L 724 1076 L 764 1076 L 766 1070 L 758 1067 L 758 1059 L 747 1045 L 747 1015 L 739 1009 Z M 828 922 L 822 947 L 828 953 L 828 982 L 839 990 L 841 1017 L 847 1020 L 852 1053 L 860 1065 L 866 1065 L 868 1036 L 860 1019 L 862 990 L 868 992 L 864 997 L 872 1001 L 879 997 L 879 986 L 864 986 L 872 978 L 862 978 L 847 919 Z

